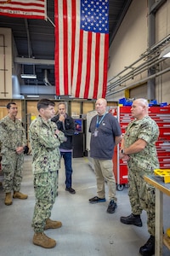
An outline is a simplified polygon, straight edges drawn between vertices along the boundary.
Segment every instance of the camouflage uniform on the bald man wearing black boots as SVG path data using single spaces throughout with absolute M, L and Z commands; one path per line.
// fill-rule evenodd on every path
M 124 135 L 125 148 L 143 139 L 147 145 L 139 153 L 130 154 L 127 160 L 129 199 L 132 212 L 139 215 L 142 210 L 147 212 L 148 231 L 155 236 L 155 189 L 144 181 L 144 175 L 153 174 L 154 169 L 159 168 L 156 153 L 156 141 L 159 136 L 159 128 L 156 122 L 149 116 L 143 119 L 133 120 Z

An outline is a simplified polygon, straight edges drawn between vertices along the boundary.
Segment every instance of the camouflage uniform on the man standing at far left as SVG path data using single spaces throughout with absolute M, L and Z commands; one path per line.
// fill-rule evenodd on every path
M 17 154 L 17 147 L 26 146 L 26 132 L 19 119 L 14 121 L 7 116 L 0 120 L 0 142 L 2 171 L 5 193 L 20 191 L 24 153 Z

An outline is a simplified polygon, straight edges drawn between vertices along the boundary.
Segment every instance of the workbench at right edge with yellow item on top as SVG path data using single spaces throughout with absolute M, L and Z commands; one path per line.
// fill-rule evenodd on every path
M 164 183 L 161 177 L 144 176 L 144 180 L 156 188 L 156 253 L 162 256 L 163 244 L 170 250 L 170 238 L 163 234 L 163 194 L 170 196 L 170 183 Z M 170 226 L 170 222 L 169 222 Z M 166 231 L 166 230 L 165 230 Z

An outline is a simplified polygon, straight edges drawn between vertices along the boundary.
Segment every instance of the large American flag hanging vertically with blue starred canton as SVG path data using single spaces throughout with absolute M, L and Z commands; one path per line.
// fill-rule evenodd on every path
M 105 97 L 109 0 L 55 0 L 56 95 Z

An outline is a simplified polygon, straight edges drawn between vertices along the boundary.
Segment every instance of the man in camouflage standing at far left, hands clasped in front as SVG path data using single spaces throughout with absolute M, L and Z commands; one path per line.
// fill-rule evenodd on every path
M 16 119 L 18 108 L 15 102 L 8 102 L 8 115 L 0 120 L 0 144 L 2 154 L 2 171 L 4 175 L 3 190 L 6 193 L 5 205 L 9 206 L 13 198 L 26 199 L 20 192 L 26 132 L 19 119 Z

